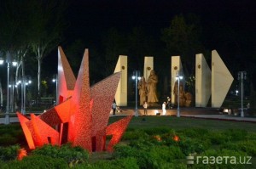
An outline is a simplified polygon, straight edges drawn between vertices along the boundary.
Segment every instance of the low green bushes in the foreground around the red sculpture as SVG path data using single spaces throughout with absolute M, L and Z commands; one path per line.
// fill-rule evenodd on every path
M 177 139 L 175 138 L 177 137 Z M 44 145 L 17 161 L 20 145 L 0 147 L 1 168 L 250 168 L 247 165 L 203 163 L 187 165 L 186 156 L 256 156 L 256 134 L 244 130 L 210 132 L 189 128 L 174 131 L 160 127 L 129 129 L 108 159 L 89 162 L 90 154 L 79 147 Z M 93 154 L 91 154 L 93 155 Z M 253 168 L 253 166 L 251 167 Z

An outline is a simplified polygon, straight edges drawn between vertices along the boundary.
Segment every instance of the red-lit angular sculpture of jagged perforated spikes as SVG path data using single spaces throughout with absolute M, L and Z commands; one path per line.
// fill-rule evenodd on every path
M 92 151 L 106 150 L 106 136 L 112 135 L 108 151 L 118 144 L 131 121 L 131 115 L 108 126 L 120 73 L 90 87 L 89 54 L 84 57 L 76 80 L 65 54 L 58 48 L 59 103 L 41 115 L 31 114 L 31 120 L 17 112 L 30 149 L 44 144 L 81 146 Z

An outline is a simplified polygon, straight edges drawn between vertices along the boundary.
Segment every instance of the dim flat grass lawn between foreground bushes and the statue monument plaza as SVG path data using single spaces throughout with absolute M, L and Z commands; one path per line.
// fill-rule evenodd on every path
M 109 123 L 124 118 L 120 116 L 109 118 Z M 242 129 L 247 132 L 256 132 L 256 123 L 244 121 L 221 121 L 191 117 L 176 116 L 138 116 L 132 117 L 128 128 L 145 129 L 154 127 L 170 127 L 174 130 L 187 128 L 203 128 L 210 131 L 224 131 L 228 129 Z

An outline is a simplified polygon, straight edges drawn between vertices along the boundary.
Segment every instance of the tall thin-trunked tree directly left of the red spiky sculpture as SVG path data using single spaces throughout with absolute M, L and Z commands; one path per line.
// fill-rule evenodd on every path
M 40 97 L 42 60 L 54 48 L 57 48 L 65 27 L 64 12 L 67 1 L 31 0 L 30 16 L 32 41 L 30 46 L 38 60 L 38 99 Z

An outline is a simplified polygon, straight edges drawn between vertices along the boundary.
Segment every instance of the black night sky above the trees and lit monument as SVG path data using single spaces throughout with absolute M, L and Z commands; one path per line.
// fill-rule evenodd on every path
M 247 59 L 256 52 L 256 3 L 253 0 L 74 0 L 67 9 L 69 27 L 61 46 L 63 44 L 65 52 L 72 42 L 81 39 L 85 42 L 84 48 L 91 51 L 92 46 L 102 45 L 101 38 L 111 27 L 131 32 L 133 27 L 142 26 L 152 36 L 160 38 L 161 30 L 169 27 L 178 14 L 200 17 L 204 46 L 209 51 L 216 49 L 229 69 L 236 66 L 236 71 L 243 70 L 247 62 L 252 64 Z M 226 27 L 234 31 L 234 38 L 224 35 L 222 30 Z M 44 63 L 49 65 L 47 59 Z

